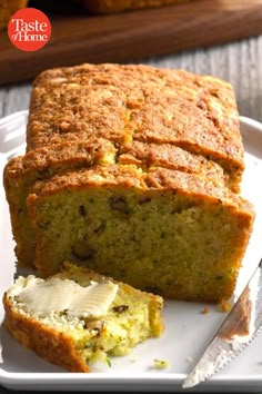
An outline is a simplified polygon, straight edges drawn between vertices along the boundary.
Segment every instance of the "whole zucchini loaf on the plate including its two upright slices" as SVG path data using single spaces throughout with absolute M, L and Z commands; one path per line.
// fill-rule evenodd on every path
M 48 277 L 72 259 L 169 298 L 232 295 L 254 213 L 229 83 L 142 65 L 47 70 L 27 144 L 4 169 L 20 265 Z

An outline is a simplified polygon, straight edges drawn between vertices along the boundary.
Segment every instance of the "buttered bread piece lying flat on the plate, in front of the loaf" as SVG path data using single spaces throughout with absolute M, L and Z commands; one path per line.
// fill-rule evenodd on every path
M 125 355 L 137 344 L 162 334 L 161 297 L 139 292 L 72 263 L 66 263 L 54 278 L 59 283 L 32 275 L 19 277 L 3 296 L 8 331 L 23 346 L 47 361 L 72 372 L 89 372 L 93 362 L 109 362 L 110 356 Z M 113 294 L 108 295 L 104 287 L 100 287 L 100 294 L 95 294 L 98 298 L 87 302 L 88 296 L 84 295 L 84 298 L 78 298 L 73 308 L 75 298 L 72 296 L 72 308 L 64 309 L 70 286 L 73 289 L 77 286 L 78 292 L 87 289 L 93 282 L 105 285 L 107 292 L 109 286 Z M 99 306 L 98 299 L 100 304 L 104 302 Z M 88 314 L 92 306 L 90 303 L 94 307 Z

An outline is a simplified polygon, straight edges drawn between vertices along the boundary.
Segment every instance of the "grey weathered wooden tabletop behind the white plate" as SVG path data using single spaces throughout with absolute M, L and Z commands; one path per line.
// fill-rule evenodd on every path
M 235 89 L 240 114 L 262 121 L 262 36 L 140 62 L 223 78 Z M 28 108 L 30 91 L 31 81 L 0 87 L 0 117 Z

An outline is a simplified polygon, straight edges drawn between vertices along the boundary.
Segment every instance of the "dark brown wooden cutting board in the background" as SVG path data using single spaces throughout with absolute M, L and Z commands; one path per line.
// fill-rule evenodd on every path
M 49 16 L 52 37 L 23 52 L 0 32 L 0 83 L 81 62 L 130 62 L 262 33 L 262 0 L 198 0 L 111 16 Z M 235 59 L 238 61 L 238 59 Z

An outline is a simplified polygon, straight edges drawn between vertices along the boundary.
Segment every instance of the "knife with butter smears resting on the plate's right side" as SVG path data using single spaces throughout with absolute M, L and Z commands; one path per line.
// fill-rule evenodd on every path
M 261 328 L 262 259 L 182 387 L 193 387 L 213 376 L 238 356 Z

